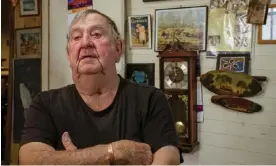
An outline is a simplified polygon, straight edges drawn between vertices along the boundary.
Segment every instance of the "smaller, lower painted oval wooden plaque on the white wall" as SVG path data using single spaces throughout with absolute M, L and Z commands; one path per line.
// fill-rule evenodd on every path
M 254 113 L 262 110 L 262 106 L 250 100 L 228 95 L 212 96 L 211 102 L 224 108 L 238 112 Z

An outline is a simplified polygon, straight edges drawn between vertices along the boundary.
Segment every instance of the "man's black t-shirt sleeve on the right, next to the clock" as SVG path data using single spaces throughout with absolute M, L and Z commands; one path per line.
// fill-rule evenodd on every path
M 172 145 L 179 149 L 171 107 L 161 90 L 156 90 L 151 97 L 143 136 L 144 141 L 151 146 L 153 153 L 167 145 Z M 180 149 L 179 152 L 180 162 L 183 162 Z

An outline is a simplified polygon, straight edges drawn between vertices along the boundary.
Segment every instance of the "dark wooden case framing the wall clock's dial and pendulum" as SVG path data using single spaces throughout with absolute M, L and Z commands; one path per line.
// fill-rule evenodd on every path
M 196 74 L 196 66 L 197 66 L 197 52 L 196 51 L 163 51 L 159 52 L 157 56 L 159 59 L 159 68 L 160 68 L 160 89 L 164 91 L 165 94 L 180 94 L 180 95 L 188 95 L 188 133 L 189 138 L 183 139 L 180 137 L 179 148 L 183 152 L 191 152 L 193 149 L 199 145 L 198 142 L 198 130 L 197 130 L 197 74 Z M 164 89 L 164 59 L 183 59 L 188 62 L 188 91 L 187 90 L 166 90 Z

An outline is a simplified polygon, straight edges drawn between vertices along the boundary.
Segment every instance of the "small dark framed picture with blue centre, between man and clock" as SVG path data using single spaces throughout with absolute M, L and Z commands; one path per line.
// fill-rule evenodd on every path
M 127 64 L 127 79 L 138 84 L 154 86 L 155 79 L 154 63 L 132 63 Z

